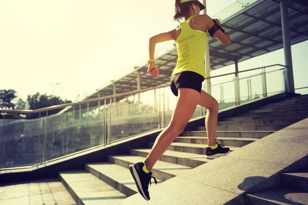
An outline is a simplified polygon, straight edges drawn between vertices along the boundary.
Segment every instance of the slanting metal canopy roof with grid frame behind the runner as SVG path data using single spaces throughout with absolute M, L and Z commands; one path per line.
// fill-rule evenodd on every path
M 291 45 L 308 39 L 308 3 L 306 0 L 289 0 L 288 17 L 290 22 Z M 221 22 L 230 34 L 232 44 L 222 45 L 209 36 L 210 68 L 216 70 L 235 61 L 241 62 L 283 48 L 280 0 L 259 0 L 226 18 Z M 137 76 L 140 72 L 140 89 L 156 87 L 169 83 L 172 70 L 177 64 L 177 49 L 171 49 L 159 56 L 156 64 L 160 77 L 147 74 L 148 65 L 144 64 L 135 71 L 88 96 L 97 98 L 115 93 L 137 90 Z M 120 99 L 118 99 L 120 100 Z

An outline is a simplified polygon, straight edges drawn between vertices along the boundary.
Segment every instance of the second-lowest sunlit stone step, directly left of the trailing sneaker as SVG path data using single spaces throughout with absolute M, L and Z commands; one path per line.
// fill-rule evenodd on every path
M 138 193 L 136 183 L 127 168 L 102 162 L 86 164 L 85 169 L 126 196 Z M 157 181 L 161 182 L 159 179 Z

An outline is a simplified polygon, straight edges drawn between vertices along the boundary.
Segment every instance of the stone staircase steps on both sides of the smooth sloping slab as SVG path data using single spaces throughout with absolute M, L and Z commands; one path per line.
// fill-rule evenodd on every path
M 219 121 L 217 141 L 236 151 L 307 117 L 308 95 L 285 98 Z M 153 167 L 153 176 L 160 183 L 208 162 L 204 157 L 206 144 L 205 127 L 182 133 Z M 108 156 L 106 162 L 88 163 L 84 170 L 61 172 L 60 179 L 77 204 L 118 203 L 138 193 L 128 166 L 144 161 L 152 146 L 153 143 L 148 143 L 146 148 L 130 149 L 126 155 Z M 281 188 L 246 194 L 245 204 L 285 204 L 281 198 L 285 193 L 295 201 L 303 201 L 293 198 L 295 193 L 307 200 L 307 170 L 282 174 L 281 185 Z

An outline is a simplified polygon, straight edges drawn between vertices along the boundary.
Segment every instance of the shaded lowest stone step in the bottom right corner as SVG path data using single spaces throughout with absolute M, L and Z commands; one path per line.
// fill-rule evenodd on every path
M 245 194 L 245 204 L 308 204 L 308 193 L 288 188 L 273 188 Z

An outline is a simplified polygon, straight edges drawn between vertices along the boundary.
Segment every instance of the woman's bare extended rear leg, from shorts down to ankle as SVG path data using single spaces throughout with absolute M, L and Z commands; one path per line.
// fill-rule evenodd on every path
M 184 131 L 187 122 L 196 110 L 199 98 L 200 93 L 196 90 L 188 88 L 179 89 L 178 102 L 172 113 L 169 126 L 159 134 L 144 161 L 148 171 L 152 170 L 157 160 L 168 149 L 172 141 Z

